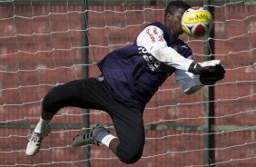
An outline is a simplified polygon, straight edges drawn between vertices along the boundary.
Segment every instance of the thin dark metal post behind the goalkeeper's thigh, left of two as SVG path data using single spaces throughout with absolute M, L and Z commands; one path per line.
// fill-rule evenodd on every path
M 82 74 L 84 78 L 88 78 L 89 75 L 89 69 L 88 65 L 89 64 L 89 58 L 88 58 L 88 17 L 87 17 L 87 7 L 88 7 L 88 2 L 87 0 L 81 0 L 81 46 L 82 46 Z M 85 110 L 83 111 L 84 116 L 83 116 L 83 125 L 84 128 L 87 129 L 90 127 L 90 120 L 89 120 L 89 115 L 87 114 L 89 111 Z M 84 166 L 85 167 L 90 167 L 91 162 L 90 160 L 90 146 L 84 147 Z

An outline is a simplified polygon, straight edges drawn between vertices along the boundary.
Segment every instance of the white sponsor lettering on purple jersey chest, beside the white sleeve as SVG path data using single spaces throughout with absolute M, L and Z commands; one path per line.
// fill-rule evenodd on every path
M 161 63 L 152 54 L 148 53 L 148 51 L 144 47 L 139 47 L 138 49 L 139 54 L 143 55 L 143 59 L 145 60 L 148 67 L 152 71 L 155 71 Z

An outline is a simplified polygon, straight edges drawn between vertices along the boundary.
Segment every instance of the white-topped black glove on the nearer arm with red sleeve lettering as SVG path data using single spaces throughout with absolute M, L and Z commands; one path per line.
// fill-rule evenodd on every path
M 221 64 L 221 61 L 212 60 L 198 64 L 191 64 L 191 66 L 189 67 L 189 72 L 192 74 L 204 74 L 214 72 L 217 64 Z

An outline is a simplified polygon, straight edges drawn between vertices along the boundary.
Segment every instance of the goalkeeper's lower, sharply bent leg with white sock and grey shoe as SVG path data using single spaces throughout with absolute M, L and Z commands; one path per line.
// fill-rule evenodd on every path
M 143 115 L 138 110 L 113 103 L 113 125 L 118 138 L 110 134 L 103 126 L 95 126 L 90 133 L 74 137 L 73 147 L 103 143 L 125 163 L 140 160 L 145 142 Z

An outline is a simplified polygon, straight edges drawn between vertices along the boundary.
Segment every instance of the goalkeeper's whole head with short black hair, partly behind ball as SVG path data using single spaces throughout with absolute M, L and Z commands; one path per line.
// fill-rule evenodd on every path
M 172 1 L 165 9 L 165 25 L 173 35 L 180 35 L 182 31 L 182 15 L 191 6 L 183 1 Z

